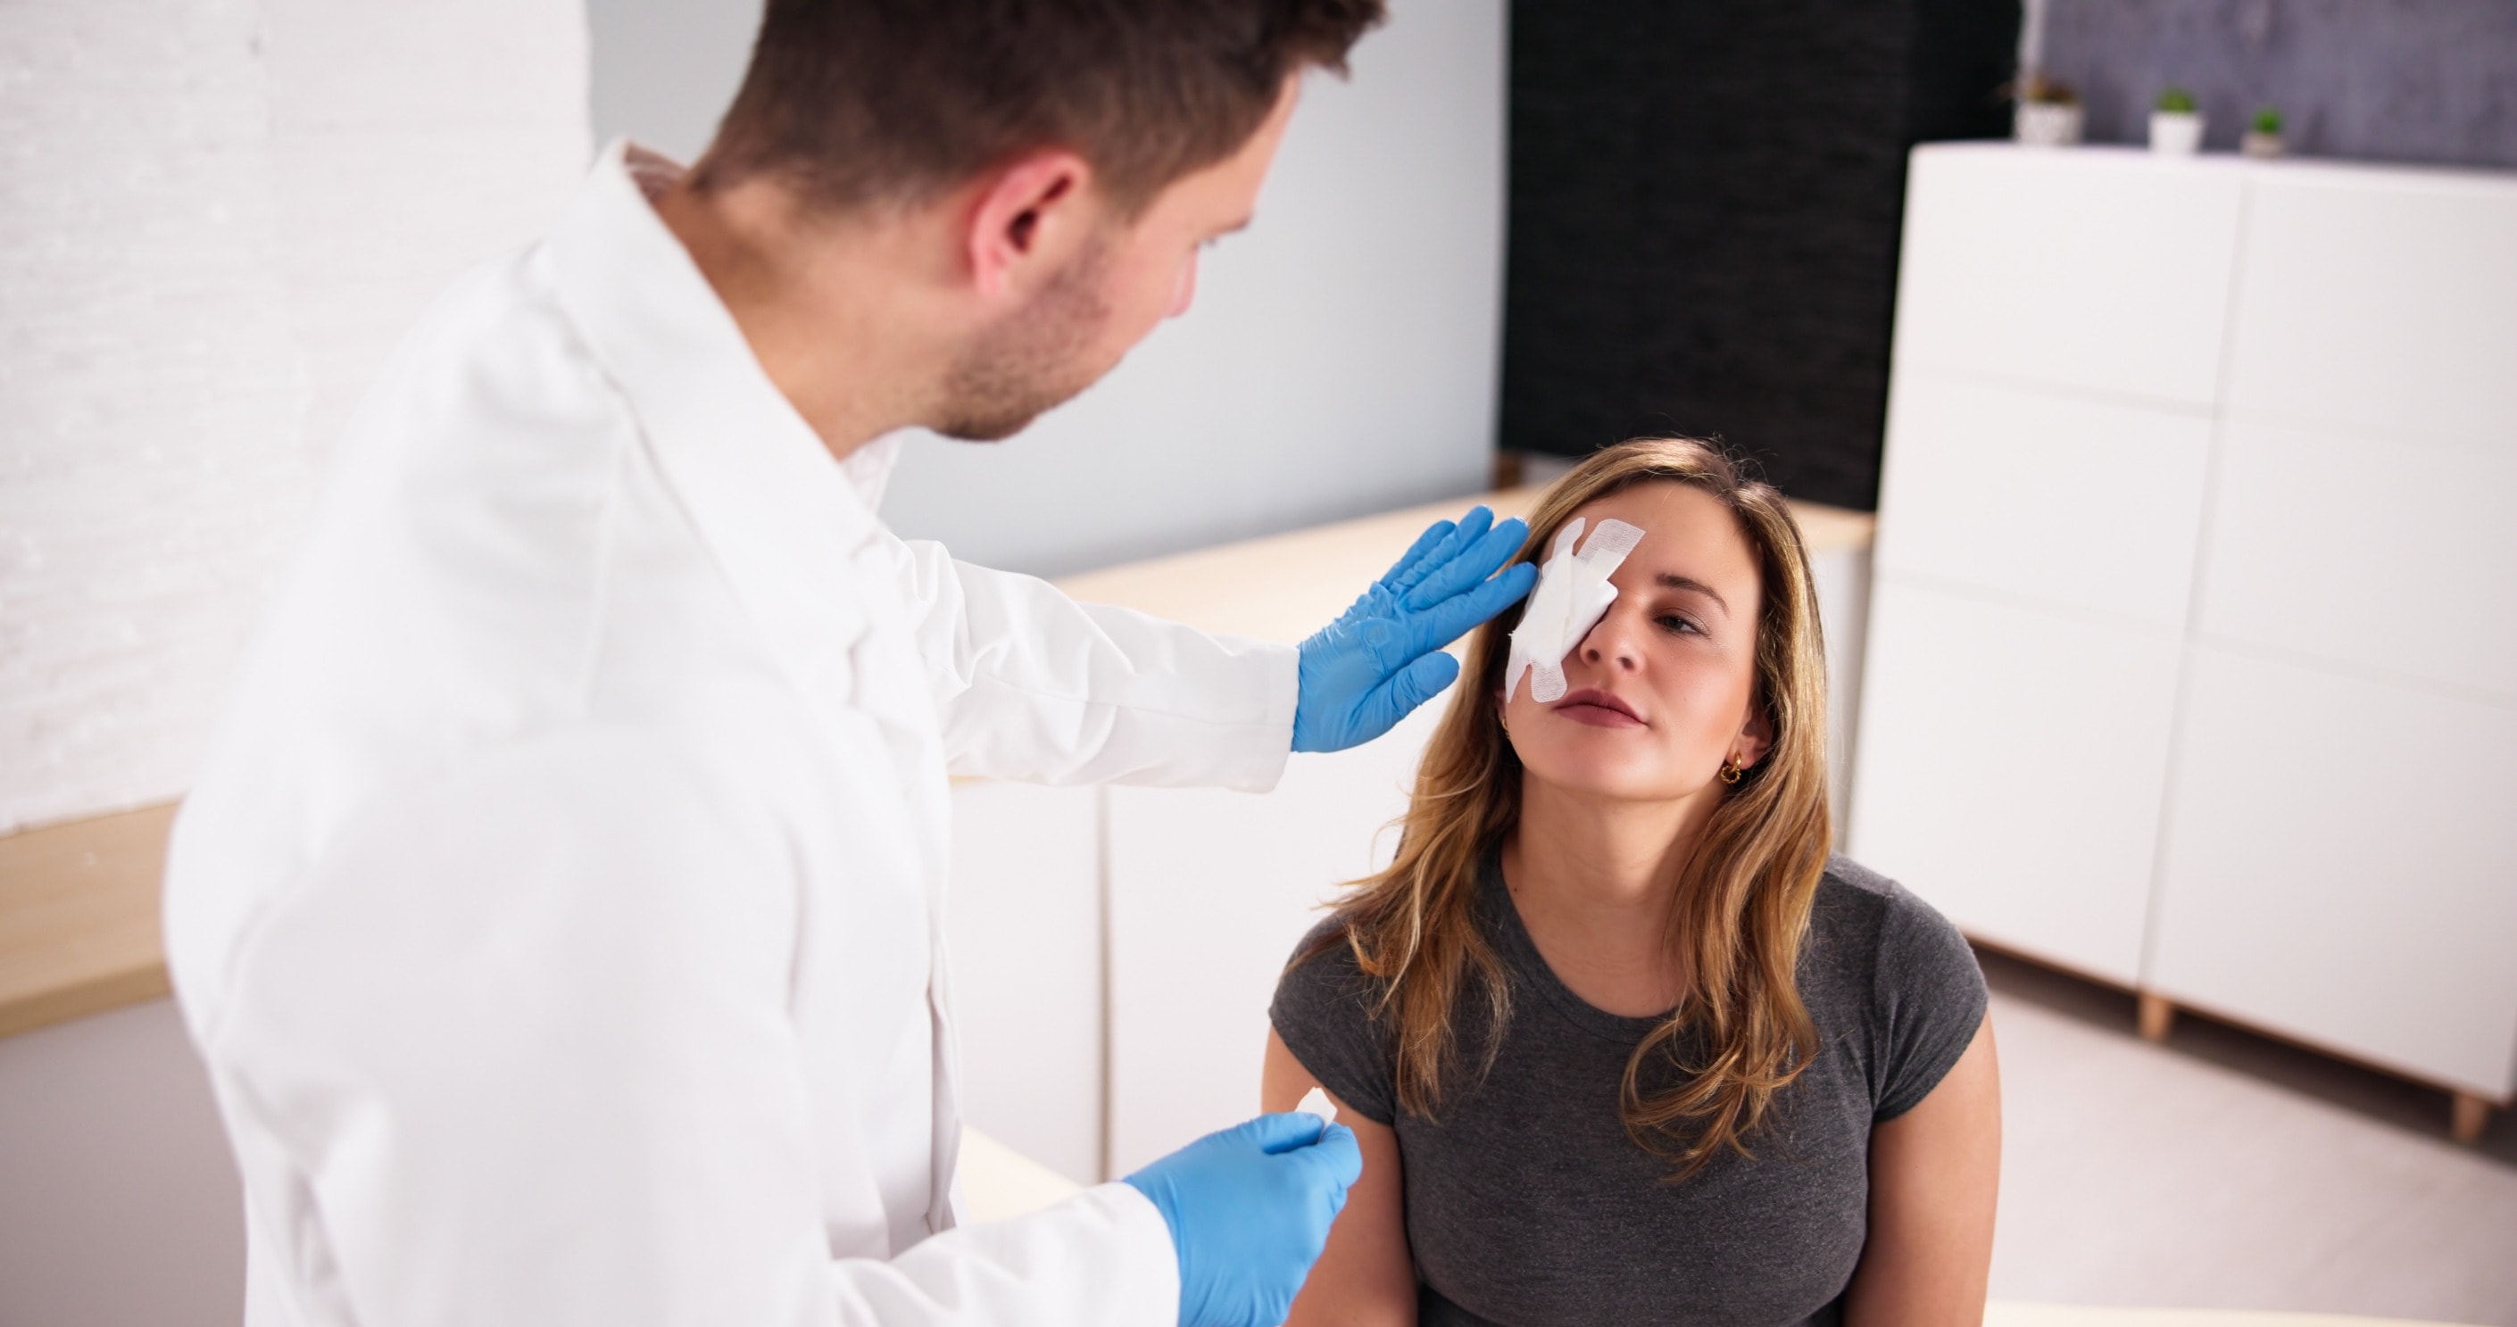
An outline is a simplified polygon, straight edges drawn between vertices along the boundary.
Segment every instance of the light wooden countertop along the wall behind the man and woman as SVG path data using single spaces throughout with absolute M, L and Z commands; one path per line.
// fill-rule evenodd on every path
M 1485 501 L 1528 516 L 1543 488 L 1508 488 L 1357 521 L 1082 572 L 1060 589 L 1208 632 L 1296 642 L 1347 609 L 1432 521 Z M 1870 516 L 1800 506 L 1812 554 L 1870 544 Z M 0 1037 L 166 995 L 159 879 L 174 803 L 0 836 Z

